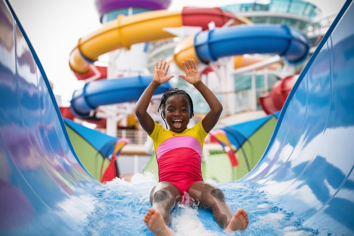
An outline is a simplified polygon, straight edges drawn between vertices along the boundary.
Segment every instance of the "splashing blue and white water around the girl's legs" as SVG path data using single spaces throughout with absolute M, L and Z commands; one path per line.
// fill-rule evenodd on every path
M 131 182 L 114 179 L 97 190 L 92 211 L 79 226 L 85 235 L 153 235 L 143 218 L 151 207 L 150 190 L 156 182 L 150 174 L 136 174 Z M 216 184 L 223 190 L 232 211 L 244 208 L 249 226 L 243 232 L 224 233 L 211 212 L 195 206 L 178 204 L 173 208 L 170 227 L 176 235 L 316 235 L 316 230 L 302 226 L 293 212 L 277 206 L 266 192 L 248 183 Z

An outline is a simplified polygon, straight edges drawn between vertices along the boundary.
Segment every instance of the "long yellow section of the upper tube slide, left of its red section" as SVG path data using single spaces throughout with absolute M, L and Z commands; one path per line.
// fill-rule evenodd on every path
M 80 74 L 89 71 L 88 61 L 97 61 L 98 56 L 132 44 L 173 38 L 175 35 L 163 30 L 165 27 L 181 27 L 181 11 L 166 10 L 144 12 L 126 17 L 120 15 L 94 33 L 79 39 L 70 53 L 70 68 Z M 86 60 L 85 60 L 85 59 Z

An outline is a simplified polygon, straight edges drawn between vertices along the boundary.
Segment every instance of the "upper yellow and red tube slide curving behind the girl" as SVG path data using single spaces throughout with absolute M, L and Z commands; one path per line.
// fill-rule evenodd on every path
M 101 29 L 79 39 L 78 46 L 70 53 L 69 65 L 74 72 L 85 74 L 90 70 L 89 64 L 104 53 L 122 47 L 129 49 L 131 45 L 141 42 L 175 37 L 164 28 L 198 25 L 206 29 L 210 21 L 221 27 L 230 19 L 234 19 L 233 24 L 251 23 L 218 7 L 184 7 L 182 11 L 175 12 L 160 10 L 128 17 L 120 15 L 115 21 L 105 23 Z

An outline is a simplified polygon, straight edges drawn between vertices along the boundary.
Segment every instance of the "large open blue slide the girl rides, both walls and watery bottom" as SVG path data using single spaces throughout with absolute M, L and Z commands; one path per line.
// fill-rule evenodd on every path
M 249 211 L 242 234 L 354 234 L 353 22 L 347 0 L 290 92 L 259 163 L 239 182 L 218 185 L 232 209 Z M 7 0 L 0 1 L 0 25 L 0 234 L 149 235 L 142 218 L 152 184 L 113 188 L 87 173 Z M 210 212 L 180 209 L 195 213 L 188 221 L 173 213 L 172 229 L 199 219 L 194 228 L 209 230 L 199 235 L 223 234 Z

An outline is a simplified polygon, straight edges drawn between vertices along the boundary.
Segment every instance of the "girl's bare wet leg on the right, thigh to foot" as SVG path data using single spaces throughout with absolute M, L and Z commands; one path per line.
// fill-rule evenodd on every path
M 188 194 L 194 200 L 198 200 L 201 207 L 211 209 L 214 219 L 225 231 L 246 229 L 249 222 L 246 211 L 239 209 L 232 214 L 225 201 L 224 193 L 220 189 L 200 181 L 189 188 Z

